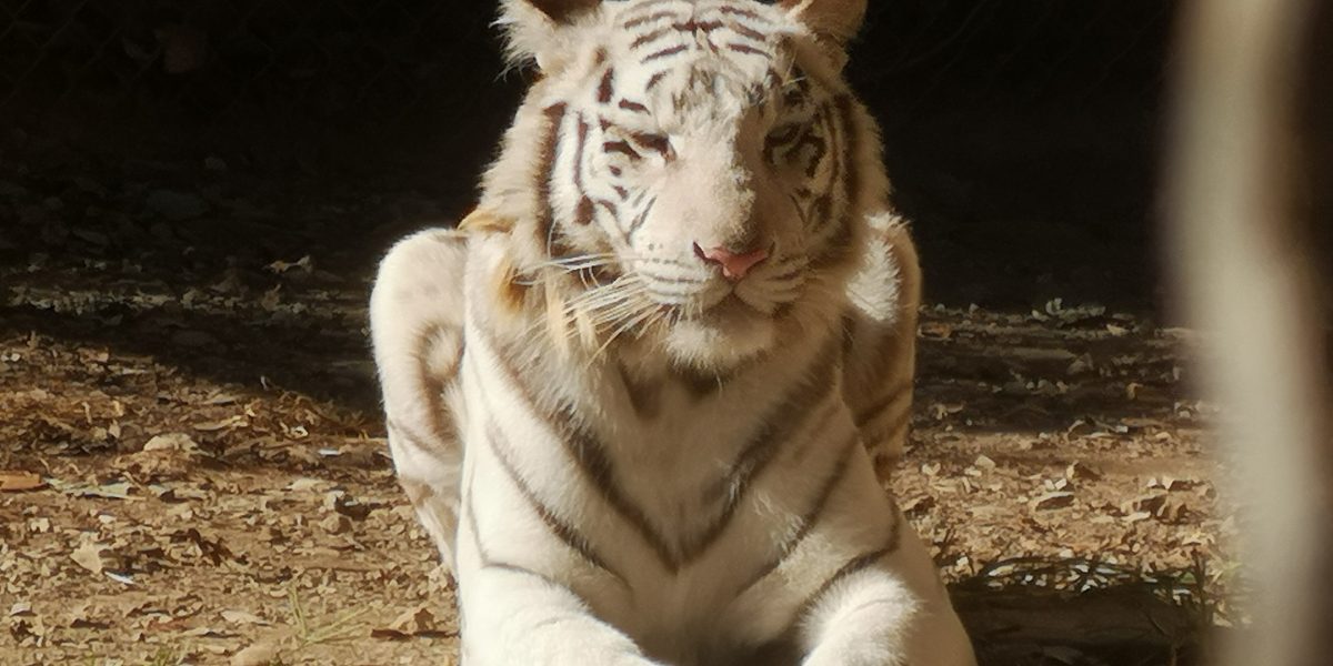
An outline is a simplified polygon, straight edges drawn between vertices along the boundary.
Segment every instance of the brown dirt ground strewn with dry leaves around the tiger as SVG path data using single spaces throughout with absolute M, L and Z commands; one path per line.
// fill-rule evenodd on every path
M 365 338 L 375 257 L 440 205 L 11 166 L 0 663 L 455 663 Z M 896 489 L 985 665 L 1196 663 L 1244 621 L 1197 341 L 1074 296 L 925 308 Z

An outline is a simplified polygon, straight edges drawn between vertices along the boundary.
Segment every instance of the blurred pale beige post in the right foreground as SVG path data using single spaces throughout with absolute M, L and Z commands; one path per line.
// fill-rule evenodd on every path
M 1170 262 L 1185 314 L 1212 342 L 1202 389 L 1221 406 L 1218 452 L 1256 585 L 1253 631 L 1225 646 L 1228 666 L 1333 663 L 1333 402 L 1314 270 L 1330 257 L 1310 250 L 1326 221 L 1298 205 L 1310 173 L 1297 140 L 1301 73 L 1321 67 L 1301 57 L 1320 1 L 1196 0 L 1181 24 Z

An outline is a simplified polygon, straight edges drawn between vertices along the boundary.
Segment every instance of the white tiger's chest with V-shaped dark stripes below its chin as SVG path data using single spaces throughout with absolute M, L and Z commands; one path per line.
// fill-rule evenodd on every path
M 491 529 L 487 547 L 568 585 L 672 663 L 734 663 L 780 638 L 826 574 L 812 561 L 856 547 L 829 531 L 830 505 L 878 493 L 830 345 L 733 377 L 644 378 L 616 365 L 580 376 L 476 332 L 465 365 L 467 466 L 480 480 L 465 511 L 535 510 L 571 535 L 541 547 Z

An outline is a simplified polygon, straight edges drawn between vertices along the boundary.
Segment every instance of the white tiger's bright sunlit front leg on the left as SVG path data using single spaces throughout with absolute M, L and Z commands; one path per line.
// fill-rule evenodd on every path
M 464 663 L 659 666 L 593 607 L 628 593 L 624 575 L 581 535 L 577 502 L 549 492 L 565 482 L 548 476 L 555 465 L 537 462 L 536 453 L 560 445 L 505 409 L 521 398 L 483 386 L 483 368 L 497 361 L 488 353 L 477 342 L 463 372 L 468 398 L 477 401 L 457 549 Z

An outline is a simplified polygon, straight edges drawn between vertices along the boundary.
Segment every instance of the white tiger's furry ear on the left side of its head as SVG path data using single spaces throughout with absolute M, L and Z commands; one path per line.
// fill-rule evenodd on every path
M 569 49 L 564 28 L 601 7 L 603 0 L 501 0 L 500 21 L 509 61 L 535 60 L 543 71 L 559 67 Z

